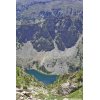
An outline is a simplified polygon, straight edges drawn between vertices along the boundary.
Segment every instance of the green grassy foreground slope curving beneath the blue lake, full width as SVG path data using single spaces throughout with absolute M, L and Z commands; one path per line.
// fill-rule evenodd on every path
M 31 93 L 32 98 L 37 98 L 41 100 L 63 100 L 64 98 L 79 98 L 82 99 L 82 79 L 83 79 L 83 72 L 82 69 L 78 72 L 67 74 L 63 76 L 59 76 L 58 80 L 55 81 L 54 84 L 50 85 L 43 85 L 42 83 L 38 82 L 34 77 L 25 73 L 20 67 L 16 67 L 16 87 L 22 89 L 28 89 L 30 86 L 32 90 L 36 93 Z M 62 84 L 66 83 L 76 83 L 77 88 L 74 91 L 70 92 L 69 94 L 63 94 L 63 87 Z M 60 91 L 60 92 L 59 92 Z M 19 94 L 17 94 L 18 97 Z M 20 98 L 18 98 L 20 100 Z M 70 100 L 70 99 L 69 99 Z

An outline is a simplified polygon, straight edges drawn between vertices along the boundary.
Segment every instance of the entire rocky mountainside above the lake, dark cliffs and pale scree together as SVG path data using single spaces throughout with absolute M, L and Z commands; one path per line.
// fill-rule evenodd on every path
M 17 65 L 38 62 L 52 74 L 82 66 L 81 0 L 20 0 L 16 7 Z

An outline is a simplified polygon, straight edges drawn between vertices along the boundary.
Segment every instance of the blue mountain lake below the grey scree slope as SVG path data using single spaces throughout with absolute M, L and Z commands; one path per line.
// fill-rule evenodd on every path
M 43 82 L 44 84 L 52 84 L 57 80 L 57 75 L 46 75 L 34 69 L 26 70 L 26 72 L 32 76 L 34 76 L 38 81 Z

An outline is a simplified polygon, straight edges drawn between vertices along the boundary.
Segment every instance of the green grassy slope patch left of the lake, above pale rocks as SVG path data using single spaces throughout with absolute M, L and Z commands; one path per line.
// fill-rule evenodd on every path
M 27 74 L 20 67 L 16 67 L 16 87 L 27 89 L 30 86 L 41 86 L 42 83 L 38 82 L 31 75 Z

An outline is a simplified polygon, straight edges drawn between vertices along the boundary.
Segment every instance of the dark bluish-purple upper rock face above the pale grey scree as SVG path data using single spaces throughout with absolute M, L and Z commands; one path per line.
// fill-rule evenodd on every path
M 16 36 L 19 43 L 30 41 L 38 52 L 53 50 L 54 40 L 62 51 L 75 45 L 82 33 L 82 2 L 30 3 L 24 6 L 17 3 Z

